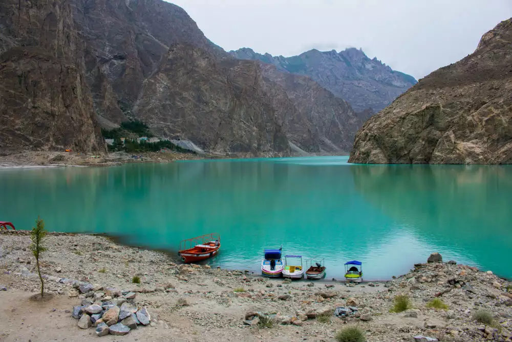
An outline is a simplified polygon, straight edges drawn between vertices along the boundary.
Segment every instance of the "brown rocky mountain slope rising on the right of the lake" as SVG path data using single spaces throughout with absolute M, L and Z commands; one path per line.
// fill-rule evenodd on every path
M 357 133 L 349 162 L 512 163 L 512 18 L 421 79 Z

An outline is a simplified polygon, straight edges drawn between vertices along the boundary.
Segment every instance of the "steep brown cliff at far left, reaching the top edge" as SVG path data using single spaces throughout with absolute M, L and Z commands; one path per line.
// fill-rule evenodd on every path
M 67 2 L 0 3 L 0 150 L 104 151 Z

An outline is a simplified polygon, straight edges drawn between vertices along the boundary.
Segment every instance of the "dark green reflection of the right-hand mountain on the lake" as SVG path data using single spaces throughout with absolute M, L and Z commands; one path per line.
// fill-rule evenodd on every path
M 423 240 L 510 276 L 512 168 L 509 166 L 362 166 L 355 188 L 382 213 Z

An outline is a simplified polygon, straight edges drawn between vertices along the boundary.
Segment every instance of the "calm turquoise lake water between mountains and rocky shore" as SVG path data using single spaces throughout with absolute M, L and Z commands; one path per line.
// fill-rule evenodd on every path
M 0 170 L 0 220 L 108 233 L 176 253 L 221 234 L 208 262 L 258 271 L 263 248 L 347 260 L 366 279 L 408 272 L 438 251 L 512 277 L 512 167 L 352 165 L 347 157 L 199 160 L 109 168 Z M 305 263 L 305 259 L 304 259 Z

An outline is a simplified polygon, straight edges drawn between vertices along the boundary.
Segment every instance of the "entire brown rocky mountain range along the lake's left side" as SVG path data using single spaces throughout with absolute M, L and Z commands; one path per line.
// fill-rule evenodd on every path
M 367 112 L 306 76 L 233 58 L 161 0 L 0 4 L 4 150 L 104 151 L 99 127 L 246 155 L 349 151 Z

